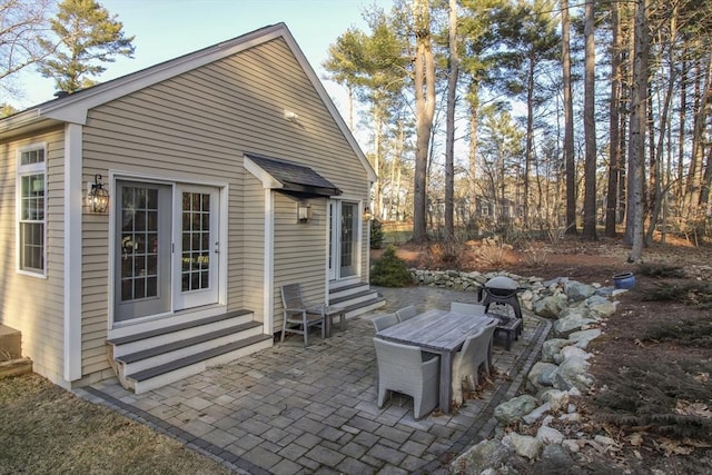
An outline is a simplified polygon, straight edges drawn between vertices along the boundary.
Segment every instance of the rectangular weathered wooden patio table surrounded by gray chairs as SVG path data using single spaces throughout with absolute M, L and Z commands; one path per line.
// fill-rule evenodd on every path
M 493 320 L 487 316 L 426 310 L 409 320 L 385 328 L 376 337 L 404 345 L 419 346 L 441 357 L 439 409 L 449 414 L 452 399 L 453 356 L 462 349 L 467 336 Z

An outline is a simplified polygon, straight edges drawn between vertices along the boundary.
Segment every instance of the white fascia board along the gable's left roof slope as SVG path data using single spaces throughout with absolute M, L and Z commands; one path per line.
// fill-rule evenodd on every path
M 91 108 L 270 41 L 284 36 L 285 31 L 287 31 L 287 29 L 284 23 L 256 30 L 233 40 L 151 66 L 103 85 L 95 86 L 91 89 L 78 93 L 76 97 L 68 96 L 57 102 L 52 101 L 40 107 L 39 115 L 67 122 L 85 125 L 87 122 L 87 112 Z

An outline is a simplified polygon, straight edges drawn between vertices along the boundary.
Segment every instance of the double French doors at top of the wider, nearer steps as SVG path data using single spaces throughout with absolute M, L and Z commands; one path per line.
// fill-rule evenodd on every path
M 115 317 L 218 301 L 219 189 L 116 182 Z

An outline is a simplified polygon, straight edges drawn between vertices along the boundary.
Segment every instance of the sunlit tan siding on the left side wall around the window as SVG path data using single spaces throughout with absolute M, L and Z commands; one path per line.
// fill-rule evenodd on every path
M 22 354 L 36 373 L 63 382 L 63 131 L 51 130 L 2 144 L 0 150 L 0 323 L 22 333 Z M 16 271 L 16 172 L 18 148 L 47 145 L 47 278 Z

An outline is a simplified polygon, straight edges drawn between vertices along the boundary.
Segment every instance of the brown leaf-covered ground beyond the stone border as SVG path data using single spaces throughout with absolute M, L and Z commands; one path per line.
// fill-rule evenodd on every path
M 582 447 L 576 468 L 566 473 L 706 475 L 712 474 L 712 247 L 669 243 L 646 248 L 642 265 L 627 264 L 629 250 L 616 239 L 513 247 L 471 241 L 454 249 L 405 245 L 397 255 L 416 267 L 508 270 L 602 285 L 634 271 L 636 287 L 616 298 L 617 311 L 589 348 L 596 386 L 584 395 L 584 418 L 557 427 L 572 438 L 586 433 L 615 444 Z M 528 469 L 560 473 L 541 464 Z

